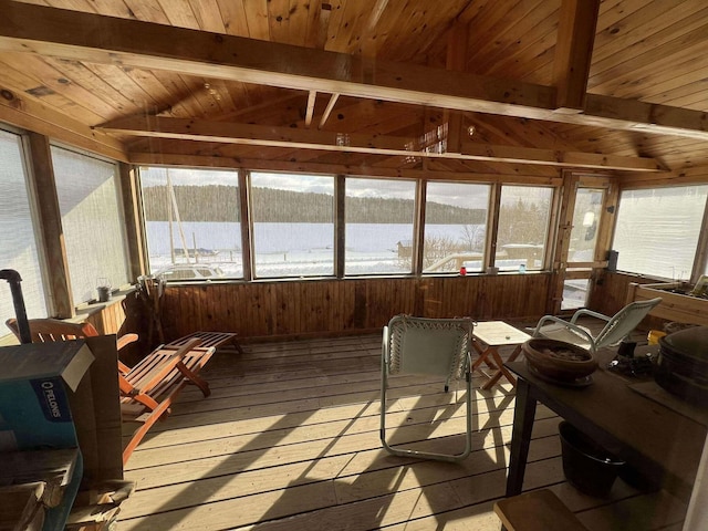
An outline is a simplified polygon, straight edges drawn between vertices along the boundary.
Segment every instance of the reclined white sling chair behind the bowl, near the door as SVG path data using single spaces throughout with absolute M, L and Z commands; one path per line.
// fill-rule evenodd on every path
M 594 353 L 598 348 L 617 345 L 637 327 L 646 314 L 659 302 L 662 302 L 662 298 L 658 296 L 648 301 L 632 302 L 612 317 L 592 310 L 579 310 L 570 321 L 544 315 L 537 324 L 533 336 L 573 343 Z M 593 336 L 590 330 L 577 324 L 577 319 L 583 315 L 603 320 L 606 324 L 597 335 Z

